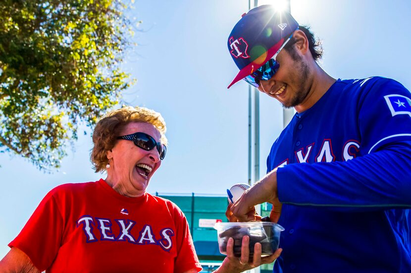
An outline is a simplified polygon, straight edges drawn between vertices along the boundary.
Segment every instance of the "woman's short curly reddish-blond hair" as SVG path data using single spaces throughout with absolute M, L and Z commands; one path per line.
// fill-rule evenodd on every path
M 130 122 L 148 122 L 161 134 L 161 143 L 167 145 L 165 121 L 160 113 L 145 107 L 125 106 L 107 113 L 97 122 L 93 131 L 91 161 L 96 172 L 104 171 L 108 163 L 107 151 L 111 150 L 118 134 Z

